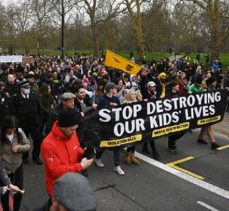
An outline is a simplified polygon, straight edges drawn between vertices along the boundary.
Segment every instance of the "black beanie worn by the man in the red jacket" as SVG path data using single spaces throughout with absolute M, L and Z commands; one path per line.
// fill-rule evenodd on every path
M 75 109 L 64 109 L 58 115 L 58 125 L 60 127 L 71 127 L 80 123 L 81 115 Z

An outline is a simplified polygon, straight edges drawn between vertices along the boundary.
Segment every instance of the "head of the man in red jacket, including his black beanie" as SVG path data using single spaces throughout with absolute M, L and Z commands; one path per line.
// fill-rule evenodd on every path
M 62 133 L 71 138 L 79 127 L 81 115 L 75 109 L 64 109 L 58 115 L 58 127 Z

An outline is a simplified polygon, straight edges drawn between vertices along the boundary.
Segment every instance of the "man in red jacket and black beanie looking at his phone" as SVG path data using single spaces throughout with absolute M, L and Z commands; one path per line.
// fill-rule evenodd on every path
M 93 159 L 82 158 L 84 150 L 80 147 L 75 132 L 79 126 L 79 119 L 80 113 L 74 109 L 61 112 L 41 145 L 49 196 L 53 194 L 53 184 L 57 178 L 67 172 L 81 172 L 93 162 Z

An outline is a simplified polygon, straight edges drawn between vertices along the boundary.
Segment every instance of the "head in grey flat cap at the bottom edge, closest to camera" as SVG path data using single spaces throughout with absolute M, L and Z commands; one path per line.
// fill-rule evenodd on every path
M 54 183 L 53 211 L 95 211 L 95 194 L 87 179 L 77 173 L 66 173 Z

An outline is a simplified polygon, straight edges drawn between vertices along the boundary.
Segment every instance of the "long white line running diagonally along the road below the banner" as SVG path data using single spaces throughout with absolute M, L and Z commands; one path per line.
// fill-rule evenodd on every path
M 177 176 L 177 177 L 179 177 L 181 179 L 184 179 L 184 180 L 186 180 L 186 181 L 188 181 L 188 182 L 190 182 L 192 184 L 195 184 L 195 185 L 197 185 L 197 186 L 199 186 L 201 188 L 204 188 L 204 189 L 206 189 L 206 190 L 208 190 L 208 191 L 210 191 L 212 193 L 215 193 L 215 194 L 217 194 L 219 196 L 222 196 L 222 197 L 224 197 L 226 199 L 229 199 L 229 191 L 227 191 L 227 190 L 224 190 L 224 189 L 222 189 L 222 188 L 220 188 L 218 186 L 212 185 L 212 184 L 210 184 L 208 182 L 199 180 L 199 179 L 197 179 L 195 177 L 192 177 L 192 176 L 190 176 L 188 174 L 180 172 L 180 171 L 178 171 L 178 170 L 176 170 L 176 169 L 174 169 L 174 168 L 172 168 L 170 166 L 165 165 L 164 163 L 158 162 L 158 161 L 156 161 L 156 160 L 154 160 L 152 158 L 149 158 L 149 157 L 147 157 L 145 155 L 142 155 L 142 154 L 140 154 L 138 152 L 135 152 L 135 155 L 136 155 L 136 157 L 138 157 L 139 159 L 145 161 L 146 163 L 149 163 L 149 164 L 151 164 L 153 166 L 156 166 L 156 167 L 158 167 L 158 168 L 160 168 L 160 169 L 162 169 L 162 170 L 164 170 L 164 171 L 166 171 L 166 172 L 168 172 L 170 174 L 173 174 L 173 175 L 175 175 L 175 176 Z

